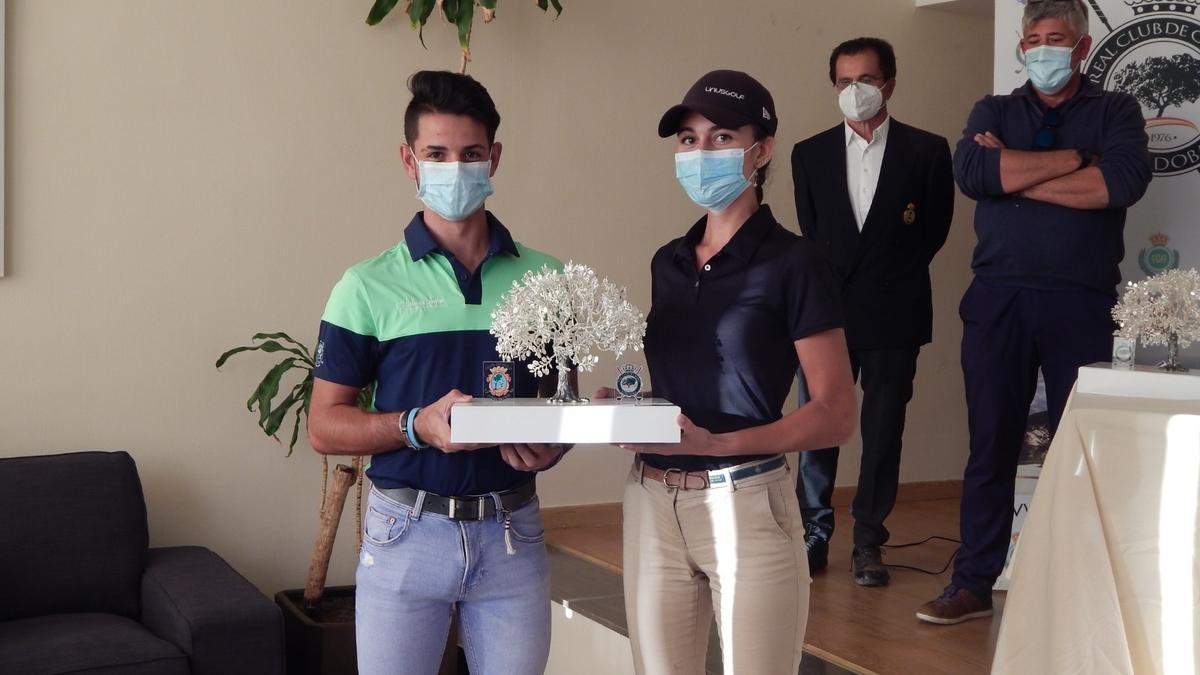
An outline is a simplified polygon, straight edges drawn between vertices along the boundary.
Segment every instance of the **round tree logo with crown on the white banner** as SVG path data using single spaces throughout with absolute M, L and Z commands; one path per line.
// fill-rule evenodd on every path
M 1084 71 L 1104 89 L 1141 103 L 1154 175 L 1200 168 L 1200 0 L 1127 0 L 1133 18 L 1116 28 L 1088 0 L 1104 28 Z M 1145 267 L 1145 265 L 1144 265 Z

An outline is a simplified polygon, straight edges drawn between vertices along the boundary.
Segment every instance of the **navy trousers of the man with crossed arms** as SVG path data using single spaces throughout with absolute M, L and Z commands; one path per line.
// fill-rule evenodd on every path
M 971 455 L 962 476 L 962 546 L 954 561 L 954 585 L 979 596 L 991 593 L 1012 537 L 1016 461 L 1038 368 L 1054 434 L 1079 368 L 1111 358 L 1114 303 L 1096 291 L 1043 291 L 979 277 L 962 297 Z

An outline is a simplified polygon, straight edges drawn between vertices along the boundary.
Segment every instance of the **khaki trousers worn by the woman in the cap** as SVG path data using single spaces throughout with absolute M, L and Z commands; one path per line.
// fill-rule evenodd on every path
M 804 525 L 788 468 L 732 488 L 625 484 L 625 614 L 641 675 L 704 673 L 716 616 L 725 675 L 796 675 L 809 614 Z

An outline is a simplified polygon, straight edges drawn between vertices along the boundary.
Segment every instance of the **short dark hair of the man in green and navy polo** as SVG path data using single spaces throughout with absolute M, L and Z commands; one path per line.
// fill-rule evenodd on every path
M 409 147 L 416 139 L 416 120 L 427 113 L 467 115 L 487 130 L 487 143 L 496 142 L 500 113 L 482 84 L 469 74 L 450 71 L 418 71 L 408 78 L 413 100 L 404 109 L 404 141 Z

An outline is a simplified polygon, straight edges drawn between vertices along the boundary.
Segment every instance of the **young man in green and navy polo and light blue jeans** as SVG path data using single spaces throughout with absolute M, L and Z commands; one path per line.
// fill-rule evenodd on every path
M 484 201 L 500 117 L 468 76 L 418 72 L 401 160 L 425 203 L 404 239 L 349 270 L 320 323 L 308 437 L 368 454 L 355 609 L 359 673 L 434 673 L 457 605 L 473 673 L 540 674 L 550 586 L 535 471 L 559 446 L 450 442 L 450 408 L 484 392 L 500 295 L 560 263 L 512 240 Z M 517 364 L 517 396 L 539 383 Z M 376 383 L 374 408 L 355 405 Z M 551 390 L 553 387 L 551 387 Z

